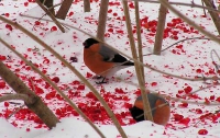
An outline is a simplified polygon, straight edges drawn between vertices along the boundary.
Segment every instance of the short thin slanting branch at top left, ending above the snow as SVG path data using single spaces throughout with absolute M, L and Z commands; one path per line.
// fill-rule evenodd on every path
M 42 10 L 44 10 L 44 12 L 46 12 L 46 14 L 54 21 L 54 23 L 57 25 L 57 27 L 65 33 L 64 27 L 61 25 L 61 23 L 56 20 L 56 18 L 53 15 L 53 13 L 51 11 L 48 11 L 41 2 L 40 0 L 36 0 L 36 3 L 40 5 L 40 8 L 42 8 Z

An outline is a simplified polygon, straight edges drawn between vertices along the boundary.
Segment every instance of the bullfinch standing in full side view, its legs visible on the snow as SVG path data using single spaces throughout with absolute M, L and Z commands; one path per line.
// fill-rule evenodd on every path
M 134 66 L 134 62 L 95 38 L 87 38 L 82 45 L 85 65 L 96 73 L 97 79 L 102 79 L 96 82 L 97 84 L 107 83 L 106 78 L 112 77 L 123 68 Z

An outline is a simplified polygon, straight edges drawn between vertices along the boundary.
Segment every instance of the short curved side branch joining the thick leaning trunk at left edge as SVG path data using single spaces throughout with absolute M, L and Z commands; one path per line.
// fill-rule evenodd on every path
M 26 104 L 33 104 L 35 102 L 35 99 L 32 96 L 29 96 L 28 94 L 7 94 L 0 96 L 0 102 L 9 101 L 9 100 L 22 100 Z

